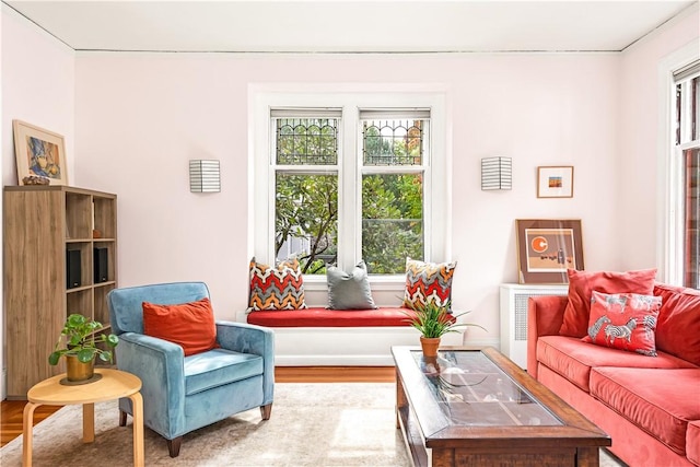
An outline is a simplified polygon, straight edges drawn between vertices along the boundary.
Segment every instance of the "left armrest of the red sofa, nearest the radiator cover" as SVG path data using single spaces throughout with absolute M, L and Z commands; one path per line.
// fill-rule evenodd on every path
M 527 299 L 527 373 L 534 378 L 537 378 L 537 338 L 559 334 L 567 303 L 567 295 L 536 295 Z

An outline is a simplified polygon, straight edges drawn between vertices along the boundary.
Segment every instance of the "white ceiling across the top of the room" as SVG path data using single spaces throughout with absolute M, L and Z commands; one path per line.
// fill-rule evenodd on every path
M 2 2 L 75 50 L 217 52 L 619 51 L 698 8 L 698 0 Z

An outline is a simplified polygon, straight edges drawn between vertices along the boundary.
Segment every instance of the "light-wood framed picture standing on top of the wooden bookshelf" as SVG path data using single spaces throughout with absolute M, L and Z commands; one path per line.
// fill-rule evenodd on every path
M 12 128 L 18 184 L 36 185 L 38 178 L 48 179 L 49 185 L 68 185 L 63 137 L 21 120 L 12 120 Z

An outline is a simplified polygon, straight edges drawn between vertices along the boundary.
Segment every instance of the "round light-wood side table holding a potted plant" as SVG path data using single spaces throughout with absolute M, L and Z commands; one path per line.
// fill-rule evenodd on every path
M 32 429 L 34 410 L 38 406 L 83 406 L 83 443 L 95 441 L 95 402 L 128 397 L 133 406 L 133 465 L 143 466 L 143 398 L 141 380 L 119 370 L 95 369 L 102 378 L 81 385 L 60 384 L 66 373 L 34 385 L 27 393 L 22 431 L 22 465 L 32 466 Z

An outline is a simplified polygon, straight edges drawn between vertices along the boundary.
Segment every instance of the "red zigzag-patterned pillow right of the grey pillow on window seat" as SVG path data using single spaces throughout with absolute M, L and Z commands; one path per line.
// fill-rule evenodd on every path
M 457 261 L 423 262 L 406 258 L 406 291 L 404 306 L 415 308 L 429 302 L 439 306 L 450 305 L 452 277 Z

